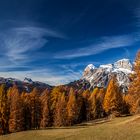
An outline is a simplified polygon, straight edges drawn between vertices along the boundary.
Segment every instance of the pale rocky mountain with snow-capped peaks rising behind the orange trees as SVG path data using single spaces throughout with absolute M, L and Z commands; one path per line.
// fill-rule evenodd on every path
M 83 73 L 82 79 L 87 80 L 91 87 L 106 87 L 111 76 L 116 75 L 118 84 L 123 91 L 127 91 L 130 78 L 133 74 L 133 66 L 129 59 L 121 59 L 114 64 L 100 65 L 98 68 L 93 64 L 89 64 Z

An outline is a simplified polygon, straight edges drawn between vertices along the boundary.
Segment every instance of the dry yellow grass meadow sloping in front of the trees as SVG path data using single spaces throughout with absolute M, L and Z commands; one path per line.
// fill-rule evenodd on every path
M 0 136 L 0 140 L 140 140 L 140 116 L 99 120 L 66 128 L 19 132 Z

